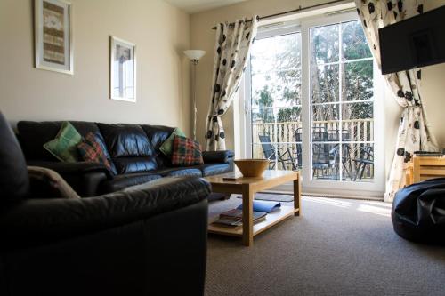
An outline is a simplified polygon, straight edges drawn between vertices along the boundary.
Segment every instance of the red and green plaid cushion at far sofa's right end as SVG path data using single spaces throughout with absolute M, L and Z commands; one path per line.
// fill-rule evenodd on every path
M 197 141 L 174 136 L 172 164 L 179 166 L 204 164 L 201 145 Z

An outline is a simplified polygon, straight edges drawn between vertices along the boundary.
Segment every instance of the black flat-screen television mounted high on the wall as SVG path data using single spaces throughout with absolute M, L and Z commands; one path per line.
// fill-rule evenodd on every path
M 378 30 L 382 74 L 445 62 L 445 6 Z

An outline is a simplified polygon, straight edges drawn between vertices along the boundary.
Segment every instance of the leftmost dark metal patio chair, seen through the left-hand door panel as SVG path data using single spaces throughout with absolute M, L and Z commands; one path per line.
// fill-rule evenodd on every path
M 259 132 L 261 147 L 263 148 L 263 154 L 266 159 L 269 160 L 269 168 L 275 168 L 276 163 L 280 163 L 283 168 L 287 168 L 288 165 L 292 167 L 292 171 L 296 171 L 295 158 L 292 156 L 291 148 L 280 147 L 275 149 L 271 143 L 271 136 L 267 132 Z

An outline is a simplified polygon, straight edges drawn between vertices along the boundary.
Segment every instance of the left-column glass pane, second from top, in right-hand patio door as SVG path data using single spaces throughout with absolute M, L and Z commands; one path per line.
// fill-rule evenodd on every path
M 338 101 L 338 65 L 312 67 L 312 102 Z

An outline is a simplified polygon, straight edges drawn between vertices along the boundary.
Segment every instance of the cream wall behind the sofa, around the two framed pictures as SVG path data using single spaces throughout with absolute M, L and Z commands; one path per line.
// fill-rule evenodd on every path
M 0 1 L 0 110 L 19 120 L 166 124 L 190 132 L 190 15 L 161 0 L 71 0 L 74 76 L 34 68 L 31 0 Z M 137 102 L 109 100 L 109 36 L 136 44 Z

